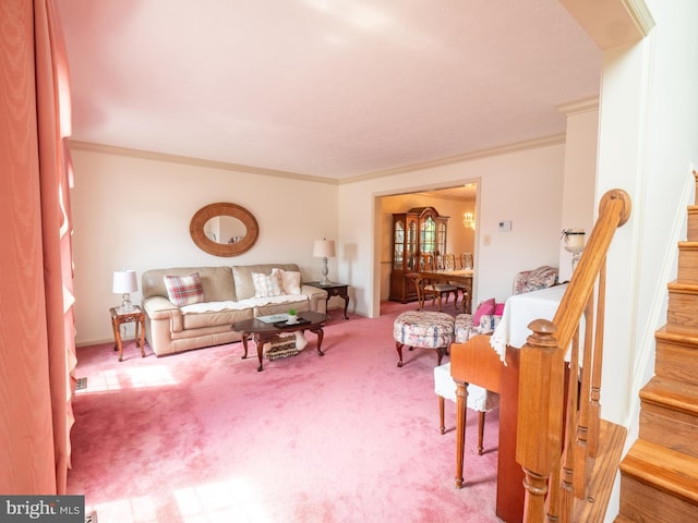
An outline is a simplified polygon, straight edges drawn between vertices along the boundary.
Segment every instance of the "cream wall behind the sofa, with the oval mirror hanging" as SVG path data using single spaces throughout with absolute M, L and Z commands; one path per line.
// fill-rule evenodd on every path
M 152 268 L 279 262 L 297 263 L 306 280 L 321 277 L 313 241 L 336 236 L 335 184 L 76 147 L 72 156 L 79 345 L 112 339 L 109 307 L 121 302 L 111 292 L 116 269 L 135 269 L 140 278 Z M 260 239 L 252 250 L 227 258 L 208 255 L 193 243 L 192 216 L 215 202 L 231 202 L 254 215 Z M 337 254 L 344 256 L 341 245 Z M 337 273 L 336 262 L 329 260 L 330 279 Z M 132 302 L 141 302 L 140 292 Z

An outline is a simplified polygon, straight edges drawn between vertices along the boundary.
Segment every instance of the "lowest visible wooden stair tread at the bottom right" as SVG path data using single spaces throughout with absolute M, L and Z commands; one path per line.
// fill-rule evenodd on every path
M 698 506 L 697 458 L 638 439 L 621 463 L 621 472 Z

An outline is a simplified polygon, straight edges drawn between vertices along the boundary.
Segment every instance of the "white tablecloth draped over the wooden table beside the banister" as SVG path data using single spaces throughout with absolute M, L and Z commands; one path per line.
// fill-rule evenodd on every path
M 534 319 L 553 319 L 567 284 L 510 296 L 504 305 L 502 320 L 490 338 L 490 344 L 504 362 L 506 345 L 520 349 L 531 335 L 528 325 Z

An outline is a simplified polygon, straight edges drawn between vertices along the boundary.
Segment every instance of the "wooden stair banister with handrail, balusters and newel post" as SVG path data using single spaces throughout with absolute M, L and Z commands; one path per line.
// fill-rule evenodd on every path
M 525 473 L 525 522 L 575 521 L 574 501 L 587 495 L 587 458 L 599 447 L 606 254 L 629 216 L 627 193 L 603 195 L 553 320 L 529 325 L 532 335 L 520 352 L 516 443 Z

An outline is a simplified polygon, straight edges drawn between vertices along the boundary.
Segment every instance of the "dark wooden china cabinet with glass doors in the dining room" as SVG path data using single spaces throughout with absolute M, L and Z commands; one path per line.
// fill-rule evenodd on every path
M 389 300 L 407 303 L 417 300 L 414 279 L 422 253 L 444 254 L 448 217 L 433 207 L 414 207 L 393 215 L 393 269 Z

